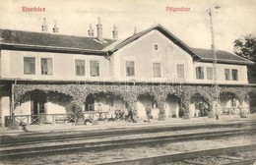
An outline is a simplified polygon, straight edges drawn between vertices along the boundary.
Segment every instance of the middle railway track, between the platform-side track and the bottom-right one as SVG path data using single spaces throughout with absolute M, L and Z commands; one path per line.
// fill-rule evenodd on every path
M 38 147 L 16 148 L 16 149 L 3 149 L 0 152 L 0 158 L 23 158 L 33 157 L 36 155 L 50 155 L 55 153 L 71 153 L 71 152 L 91 152 L 91 151 L 103 151 L 116 148 L 138 147 L 147 146 L 162 143 L 171 143 L 176 141 L 188 141 L 196 139 L 213 139 L 213 138 L 227 138 L 234 136 L 255 135 L 256 129 L 247 130 L 235 130 L 235 131 L 222 131 L 222 132 L 210 132 L 199 134 L 186 134 L 175 136 L 160 136 L 152 138 L 128 138 L 117 140 L 102 140 L 96 142 L 78 142 L 78 143 L 63 143 L 59 145 L 46 145 Z

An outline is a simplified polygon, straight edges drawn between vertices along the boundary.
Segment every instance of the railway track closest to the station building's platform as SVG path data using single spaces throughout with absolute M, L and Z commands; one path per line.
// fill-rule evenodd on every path
M 74 131 L 74 132 L 60 132 L 60 133 L 28 133 L 19 136 L 1 136 L 1 147 L 28 145 L 34 143 L 47 143 L 47 142 L 59 142 L 68 140 L 87 140 L 92 138 L 111 138 L 116 136 L 138 135 L 138 134 L 151 134 L 162 132 L 175 132 L 175 131 L 191 131 L 197 129 L 215 129 L 215 128 L 244 128 L 251 127 L 256 128 L 256 123 L 239 123 L 239 124 L 208 124 L 208 125 L 196 125 L 196 126 L 164 126 L 164 127 L 150 127 L 150 128 L 123 128 L 123 129 L 111 129 L 100 131 Z

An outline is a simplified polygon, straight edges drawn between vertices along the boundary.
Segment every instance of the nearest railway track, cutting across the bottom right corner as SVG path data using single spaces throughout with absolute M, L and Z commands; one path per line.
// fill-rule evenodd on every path
M 233 156 L 234 153 L 245 152 L 245 151 L 251 151 L 251 152 L 255 153 L 256 144 L 225 147 L 225 148 L 218 148 L 218 149 L 200 150 L 200 151 L 195 151 L 195 152 L 185 152 L 185 153 L 170 154 L 170 155 L 163 155 L 163 156 L 156 156 L 156 157 L 131 159 L 131 160 L 105 162 L 105 163 L 100 163 L 100 165 L 120 165 L 120 164 L 125 164 L 125 165 L 134 165 L 134 164 L 147 164 L 147 165 L 155 165 L 155 164 L 254 165 L 256 163 L 255 156 L 252 158 L 242 158 L 242 157 Z M 231 155 L 228 155 L 228 154 L 231 154 Z M 217 158 L 217 159 L 214 159 L 214 162 L 210 161 L 209 156 L 212 156 L 212 158 Z M 204 157 L 205 157 L 205 159 L 204 159 Z M 221 162 L 218 163 L 217 162 L 218 159 Z M 228 162 L 227 163 L 224 162 L 224 159 L 228 160 Z M 222 161 L 224 163 L 222 163 Z

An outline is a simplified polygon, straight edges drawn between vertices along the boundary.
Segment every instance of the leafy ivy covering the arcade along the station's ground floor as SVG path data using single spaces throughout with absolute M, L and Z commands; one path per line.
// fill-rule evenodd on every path
M 249 92 L 256 93 L 255 87 L 231 87 L 219 86 L 220 94 L 232 93 L 240 103 L 244 100 Z M 213 106 L 215 98 L 215 88 L 213 86 L 201 85 L 121 85 L 121 84 L 16 84 L 15 107 L 20 103 L 29 101 L 31 93 L 34 91 L 43 91 L 45 93 L 57 93 L 70 98 L 73 105 L 82 107 L 86 102 L 89 94 L 105 93 L 121 97 L 127 104 L 135 106 L 138 96 L 141 94 L 149 94 L 158 102 L 160 115 L 164 116 L 164 102 L 168 95 L 174 95 L 181 100 L 181 109 L 189 111 L 190 99 L 195 94 L 200 94 L 210 105 Z M 53 94 L 54 99 L 63 99 L 63 97 Z

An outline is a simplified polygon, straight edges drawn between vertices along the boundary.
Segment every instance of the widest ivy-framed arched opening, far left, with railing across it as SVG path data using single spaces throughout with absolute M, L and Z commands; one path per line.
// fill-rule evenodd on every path
M 14 110 L 18 122 L 52 124 L 64 122 L 72 114 L 72 97 L 60 92 L 35 89 L 19 98 Z

